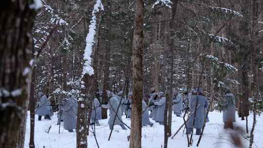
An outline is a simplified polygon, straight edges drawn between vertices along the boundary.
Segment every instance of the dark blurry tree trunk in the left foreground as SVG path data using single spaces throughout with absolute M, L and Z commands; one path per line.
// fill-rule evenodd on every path
M 16 148 L 14 136 L 18 135 L 25 115 L 23 105 L 28 100 L 31 30 L 36 15 L 29 1 L 0 2 L 0 148 Z

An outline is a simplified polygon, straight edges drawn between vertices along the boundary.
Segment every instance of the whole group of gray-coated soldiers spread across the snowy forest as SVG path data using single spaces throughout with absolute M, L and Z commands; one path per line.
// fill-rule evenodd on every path
M 108 103 L 102 104 L 101 97 L 94 98 L 91 111 L 91 123 L 90 125 L 100 126 L 99 121 L 101 120 L 101 108 L 109 109 L 109 128 L 113 129 L 115 125 L 119 125 L 122 129 L 126 129 L 126 125 L 122 120 L 122 116 L 126 115 L 126 118 L 131 118 L 132 112 L 132 92 L 128 93 L 128 97 L 123 95 L 123 91 L 114 94 L 113 92 L 106 91 L 108 97 Z M 100 96 L 102 93 L 100 93 Z M 39 92 L 40 102 L 38 102 L 38 120 L 41 120 L 41 116 L 45 116 L 46 119 L 51 120 L 53 113 L 50 102 L 47 97 Z M 230 92 L 229 88 L 225 90 L 225 96 L 222 101 L 223 111 L 223 122 L 225 123 L 224 128 L 231 128 L 233 126 L 228 124 L 229 122 L 235 122 L 235 97 Z M 164 125 L 164 111 L 166 108 L 166 96 L 164 92 L 156 92 L 154 88 L 150 89 L 150 96 L 147 100 L 142 98 L 142 125 L 153 126 L 150 118 Z M 179 92 L 175 91 L 172 95 L 172 111 L 180 117 L 183 111 L 188 113 L 187 120 L 187 134 L 190 134 L 193 128 L 196 129 L 196 134 L 201 134 L 205 119 L 207 118 L 208 100 L 204 95 L 202 88 L 192 89 L 189 93 L 187 91 Z M 59 111 L 57 112 L 57 124 L 61 121 L 64 122 L 64 129 L 69 132 L 73 132 L 76 128 L 76 117 L 77 117 L 77 100 L 71 93 L 68 94 L 67 98 L 63 99 L 61 104 L 58 105 Z

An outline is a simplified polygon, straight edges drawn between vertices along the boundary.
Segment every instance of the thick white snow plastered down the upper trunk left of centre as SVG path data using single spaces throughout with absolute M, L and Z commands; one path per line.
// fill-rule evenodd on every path
M 82 76 L 84 74 L 89 74 L 92 75 L 94 74 L 94 70 L 92 67 L 92 47 L 94 46 L 94 38 L 96 34 L 96 13 L 99 12 L 99 9 L 103 10 L 103 5 L 101 3 L 101 0 L 96 0 L 96 3 L 94 4 L 94 9 L 92 11 L 92 19 L 90 21 L 90 26 L 89 26 L 89 33 L 86 37 L 86 48 L 84 51 L 84 60 L 85 63 L 83 65 L 83 72 Z

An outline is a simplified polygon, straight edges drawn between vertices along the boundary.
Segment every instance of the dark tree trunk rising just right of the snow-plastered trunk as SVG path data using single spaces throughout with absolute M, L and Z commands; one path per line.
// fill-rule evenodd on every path
M 102 0 L 102 3 L 104 5 L 104 12 L 105 14 L 103 17 L 105 18 L 106 23 L 106 44 L 105 44 L 105 57 L 104 57 L 104 79 L 103 79 L 103 94 L 102 94 L 102 103 L 107 103 L 107 93 L 106 90 L 109 89 L 110 85 L 110 53 L 111 53 L 111 1 L 110 0 Z M 102 119 L 107 119 L 107 109 L 102 108 L 101 109 L 101 117 Z

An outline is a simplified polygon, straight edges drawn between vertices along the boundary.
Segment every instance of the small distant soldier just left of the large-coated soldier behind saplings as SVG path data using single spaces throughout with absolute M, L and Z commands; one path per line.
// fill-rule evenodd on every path
M 172 98 L 172 104 L 173 113 L 176 114 L 177 117 L 180 117 L 183 111 L 183 100 L 182 95 L 177 91 Z

